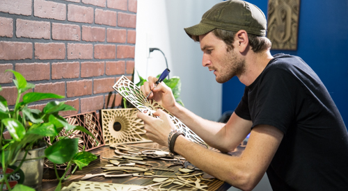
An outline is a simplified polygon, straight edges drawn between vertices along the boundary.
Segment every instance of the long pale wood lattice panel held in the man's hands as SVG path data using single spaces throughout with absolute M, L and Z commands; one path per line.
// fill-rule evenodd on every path
M 125 97 L 127 101 L 132 103 L 138 110 L 142 113 L 147 113 L 148 115 L 154 117 L 153 113 L 157 109 L 164 110 L 171 117 L 175 127 L 185 134 L 185 137 L 196 142 L 197 144 L 208 147 L 208 145 L 200 138 L 196 133 L 191 131 L 185 124 L 180 122 L 174 115 L 168 112 L 165 108 L 159 105 L 153 99 L 146 99 L 144 94 L 141 92 L 140 88 L 136 86 L 132 81 L 129 81 L 125 76 L 122 76 L 116 83 L 113 85 L 113 89 L 116 90 L 122 97 Z

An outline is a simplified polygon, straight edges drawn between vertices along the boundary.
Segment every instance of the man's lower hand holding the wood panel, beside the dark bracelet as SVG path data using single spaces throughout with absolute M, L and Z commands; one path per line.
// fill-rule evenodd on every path
M 171 117 L 164 113 L 163 110 L 157 110 L 153 115 L 159 116 L 159 118 L 151 117 L 141 112 L 137 114 L 137 117 L 143 120 L 145 134 L 150 140 L 168 147 L 168 135 L 175 129 Z

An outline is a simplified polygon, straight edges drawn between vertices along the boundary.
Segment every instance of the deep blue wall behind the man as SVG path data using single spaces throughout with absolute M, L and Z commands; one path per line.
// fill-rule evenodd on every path
M 267 0 L 248 2 L 267 13 Z M 317 72 L 348 126 L 348 0 L 301 1 L 297 51 L 271 51 L 281 52 L 300 56 Z M 223 84 L 222 112 L 235 109 L 244 87 L 237 77 Z

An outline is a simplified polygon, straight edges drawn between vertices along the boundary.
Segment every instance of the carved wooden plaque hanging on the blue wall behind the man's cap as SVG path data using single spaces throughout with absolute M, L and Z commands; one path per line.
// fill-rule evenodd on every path
M 268 1 L 267 38 L 272 50 L 296 50 L 300 0 Z

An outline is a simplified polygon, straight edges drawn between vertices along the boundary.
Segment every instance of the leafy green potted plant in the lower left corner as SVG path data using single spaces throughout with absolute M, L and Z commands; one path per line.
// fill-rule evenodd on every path
M 26 164 L 33 160 L 40 160 L 40 165 L 43 165 L 43 159 L 48 158 L 54 163 L 54 167 L 56 167 L 56 164 L 68 163 L 67 170 L 72 164 L 76 164 L 75 169 L 72 171 L 73 173 L 77 167 L 81 169 L 97 158 L 92 153 L 86 151 L 79 152 L 79 140 L 77 138 L 70 139 L 68 138 L 69 135 L 59 137 L 59 133 L 63 128 L 65 128 L 65 132 L 79 130 L 93 136 L 83 126 L 72 126 L 58 115 L 61 111 L 75 110 L 72 106 L 66 105 L 64 102 L 50 101 L 42 111 L 28 107 L 29 103 L 44 99 L 62 99 L 63 96 L 40 92 L 24 94 L 26 90 L 34 88 L 35 85 L 27 83 L 22 74 L 18 72 L 13 70 L 6 70 L 6 72 L 12 72 L 15 75 L 13 82 L 18 94 L 13 110 L 9 110 L 6 99 L 0 96 L 0 190 L 33 190 L 31 188 L 33 186 L 26 186 L 27 183 L 25 181 L 26 172 L 33 171 L 38 171 L 38 174 L 41 173 L 41 177 L 38 177 L 38 182 L 41 185 L 42 172 L 40 171 L 42 171 L 42 167 L 33 168 L 33 165 Z M 23 101 L 20 101 L 22 94 L 24 94 Z M 3 136 L 6 130 L 10 134 L 10 139 L 5 139 Z M 50 138 L 52 145 L 48 145 L 43 139 L 47 137 Z M 40 156 L 40 153 L 42 156 Z M 32 169 L 21 169 L 25 164 Z M 35 163 L 35 165 L 37 164 Z M 20 176 L 23 175 L 24 181 L 20 179 Z M 29 175 L 27 178 L 32 178 L 31 176 Z M 56 190 L 61 190 L 61 182 L 66 179 L 65 174 L 59 177 L 56 172 L 56 176 L 59 181 Z M 14 186 L 14 184 L 17 185 Z M 37 189 L 40 189 L 40 185 L 38 185 Z

